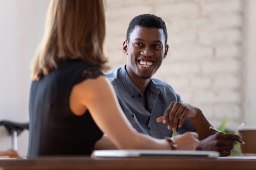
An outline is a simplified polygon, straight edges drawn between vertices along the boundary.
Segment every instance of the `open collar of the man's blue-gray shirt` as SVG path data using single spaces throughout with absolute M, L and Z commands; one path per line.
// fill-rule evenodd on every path
M 132 82 L 132 80 L 130 79 L 130 77 L 128 76 L 127 72 L 126 72 L 126 65 L 124 65 L 119 73 L 118 76 L 121 80 L 121 82 L 123 83 L 125 89 L 128 91 L 129 95 L 132 98 L 135 98 L 137 95 L 140 94 L 140 90 L 138 89 L 138 87 Z M 152 94 L 159 94 L 159 89 L 158 87 L 155 85 L 155 83 L 152 81 L 152 79 L 150 79 L 149 84 L 147 89 L 149 90 L 149 92 L 151 92 Z M 146 89 L 146 90 L 147 90 Z

